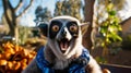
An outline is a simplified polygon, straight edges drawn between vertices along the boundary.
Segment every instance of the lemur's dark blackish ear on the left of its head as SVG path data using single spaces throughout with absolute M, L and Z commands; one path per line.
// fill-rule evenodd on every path
M 48 24 L 47 23 L 39 23 L 38 25 L 39 32 L 43 36 L 47 37 L 47 33 L 48 33 Z

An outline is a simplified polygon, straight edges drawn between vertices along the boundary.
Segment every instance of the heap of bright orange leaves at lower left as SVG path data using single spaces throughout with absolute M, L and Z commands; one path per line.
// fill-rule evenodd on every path
M 36 56 L 35 51 L 28 51 L 11 42 L 2 44 L 0 47 L 0 73 L 21 73 Z

